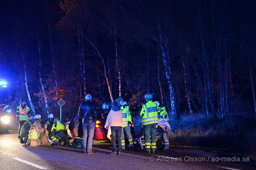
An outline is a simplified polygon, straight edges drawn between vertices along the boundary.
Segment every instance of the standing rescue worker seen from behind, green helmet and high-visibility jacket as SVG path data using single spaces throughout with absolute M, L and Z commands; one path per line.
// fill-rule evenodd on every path
M 142 105 L 140 116 L 143 127 L 143 134 L 145 138 L 145 148 L 148 153 L 155 153 L 156 151 L 156 123 L 158 123 L 158 105 L 152 102 L 153 95 L 147 93 L 145 95 L 146 104 Z M 150 143 L 151 136 L 151 143 Z M 150 151 L 151 145 L 151 151 Z

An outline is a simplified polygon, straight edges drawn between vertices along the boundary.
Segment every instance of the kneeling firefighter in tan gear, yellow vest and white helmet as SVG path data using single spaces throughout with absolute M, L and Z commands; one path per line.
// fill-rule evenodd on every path
M 40 140 L 41 133 L 44 132 L 44 128 L 41 125 L 41 115 L 37 114 L 35 116 L 34 123 L 31 125 L 28 133 L 28 141 L 25 143 L 26 146 L 41 146 L 42 142 Z

